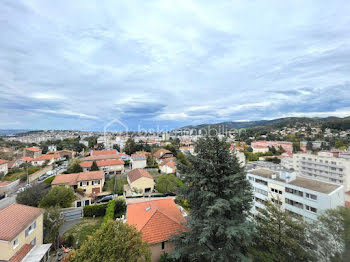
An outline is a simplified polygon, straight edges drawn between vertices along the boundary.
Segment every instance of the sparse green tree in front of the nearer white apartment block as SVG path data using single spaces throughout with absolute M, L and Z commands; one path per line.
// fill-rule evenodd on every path
M 257 234 L 249 252 L 256 262 L 316 261 L 306 225 L 279 205 L 266 202 L 256 217 Z

